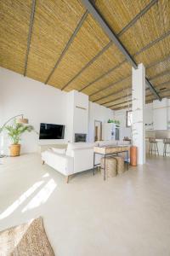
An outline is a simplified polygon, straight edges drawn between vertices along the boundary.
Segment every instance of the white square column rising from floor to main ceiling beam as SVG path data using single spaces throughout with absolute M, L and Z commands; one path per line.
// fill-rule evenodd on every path
M 139 64 L 137 69 L 133 68 L 133 146 L 138 148 L 138 164 L 145 163 L 145 68 Z

